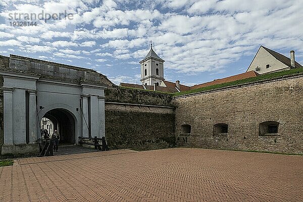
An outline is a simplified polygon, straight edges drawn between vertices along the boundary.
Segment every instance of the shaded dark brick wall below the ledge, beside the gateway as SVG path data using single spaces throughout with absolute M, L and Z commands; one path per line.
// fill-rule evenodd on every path
M 156 149 L 175 144 L 171 108 L 106 104 L 106 138 L 112 148 Z

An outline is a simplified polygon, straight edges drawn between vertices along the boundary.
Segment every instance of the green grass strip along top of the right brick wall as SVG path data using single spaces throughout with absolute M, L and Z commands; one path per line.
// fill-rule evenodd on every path
M 195 93 L 195 92 L 203 92 L 203 91 L 213 90 L 216 88 L 223 88 L 223 87 L 234 86 L 234 85 L 239 85 L 239 84 L 244 84 L 244 83 L 249 83 L 249 82 L 262 81 L 262 80 L 266 80 L 266 79 L 278 78 L 278 77 L 302 73 L 302 72 L 303 72 L 303 68 L 296 68 L 296 69 L 285 70 L 285 71 L 281 71 L 281 72 L 263 74 L 263 75 L 260 75 L 257 77 L 246 78 L 246 79 L 241 79 L 241 80 L 237 80 L 237 81 L 231 81 L 228 83 L 221 83 L 221 84 L 191 89 L 191 90 L 187 90 L 187 91 L 176 92 L 176 93 L 173 93 L 173 96 L 185 95 L 185 94 L 190 94 L 190 93 Z

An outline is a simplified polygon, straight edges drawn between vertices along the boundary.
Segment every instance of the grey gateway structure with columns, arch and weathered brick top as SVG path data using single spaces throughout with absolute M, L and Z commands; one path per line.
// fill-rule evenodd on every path
M 94 70 L 11 55 L 3 79 L 2 155 L 36 153 L 47 118 L 62 141 L 105 136 L 104 89 L 112 83 Z

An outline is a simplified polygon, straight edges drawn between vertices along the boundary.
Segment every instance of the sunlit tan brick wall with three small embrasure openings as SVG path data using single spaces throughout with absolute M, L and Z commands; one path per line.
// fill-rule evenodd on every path
M 175 97 L 177 144 L 303 153 L 302 100 L 303 75 Z M 279 122 L 278 133 L 259 135 L 265 121 Z M 228 133 L 213 134 L 219 123 L 228 124 Z

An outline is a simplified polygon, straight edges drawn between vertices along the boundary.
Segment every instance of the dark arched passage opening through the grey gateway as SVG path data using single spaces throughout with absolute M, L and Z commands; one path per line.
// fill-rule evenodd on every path
M 49 120 L 49 121 L 48 121 Z M 48 111 L 41 120 L 41 127 L 45 121 L 48 125 L 52 124 L 52 130 L 57 130 L 60 134 L 60 143 L 75 143 L 75 119 L 73 115 L 65 109 L 53 109 Z M 45 125 L 44 125 L 45 127 Z M 50 127 L 50 126 L 49 126 Z M 52 137 L 52 133 L 49 134 Z

